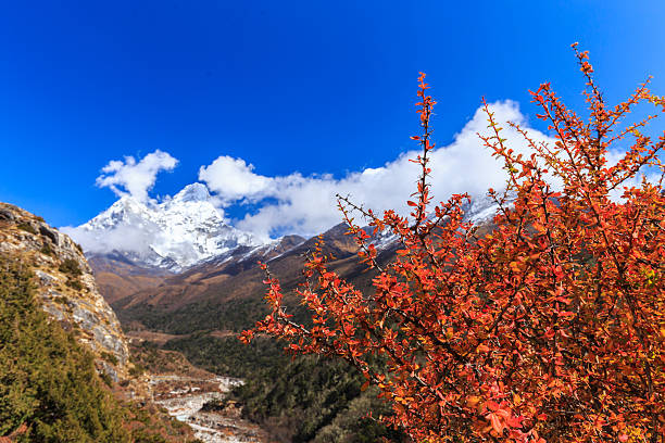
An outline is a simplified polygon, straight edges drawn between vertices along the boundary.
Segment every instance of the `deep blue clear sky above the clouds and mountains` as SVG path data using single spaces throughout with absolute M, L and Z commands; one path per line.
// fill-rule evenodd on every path
M 611 101 L 649 74 L 664 94 L 664 16 L 655 0 L 8 3 L 0 201 L 78 225 L 117 199 L 96 186 L 102 167 L 155 150 L 178 164 L 152 197 L 221 156 L 262 177 L 343 180 L 413 149 L 418 71 L 439 101 L 440 144 L 482 96 L 514 101 L 538 128 L 527 91 L 540 83 L 581 105 L 574 41 Z M 250 203 L 225 211 L 242 218 L 262 204 Z

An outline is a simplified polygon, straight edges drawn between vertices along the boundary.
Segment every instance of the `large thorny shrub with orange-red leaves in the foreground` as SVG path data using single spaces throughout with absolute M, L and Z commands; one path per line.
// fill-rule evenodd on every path
M 467 195 L 432 207 L 435 101 L 423 75 L 423 132 L 412 137 L 422 145 L 414 160 L 422 174 L 410 216 L 377 216 L 340 199 L 360 257 L 377 273 L 374 289 L 361 293 L 330 271 L 319 248 L 298 291 L 312 326 L 286 313 L 268 273 L 272 313 L 242 339 L 268 333 L 290 352 L 348 360 L 380 389 L 394 409 L 389 420 L 414 441 L 664 441 L 665 168 L 657 154 L 665 135 L 643 135 L 652 117 L 623 118 L 640 102 L 665 111 L 665 100 L 645 83 L 608 106 L 587 53 L 573 48 L 588 122 L 549 84 L 531 92 L 555 143 L 536 142 L 515 126 L 531 150 L 516 154 L 485 106 L 492 135 L 480 138 L 507 170 L 507 191 L 489 190 L 500 206 L 489 233 L 464 220 Z M 617 145 L 629 147 L 608 164 Z M 643 168 L 660 180 L 629 186 Z M 376 262 L 372 237 L 351 211 L 375 233 L 399 237 L 393 263 Z M 369 365 L 371 356 L 386 364 Z

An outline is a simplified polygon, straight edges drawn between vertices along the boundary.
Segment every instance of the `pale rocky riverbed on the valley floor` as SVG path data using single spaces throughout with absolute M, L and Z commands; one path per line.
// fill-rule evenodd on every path
M 229 390 L 241 382 L 228 377 L 149 376 L 154 403 L 164 407 L 171 416 L 189 425 L 201 441 L 266 442 L 265 433 L 255 425 L 242 420 L 236 405 L 225 401 Z M 214 407 L 203 408 L 205 404 L 212 404 Z

